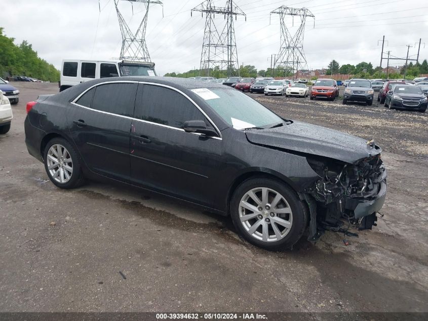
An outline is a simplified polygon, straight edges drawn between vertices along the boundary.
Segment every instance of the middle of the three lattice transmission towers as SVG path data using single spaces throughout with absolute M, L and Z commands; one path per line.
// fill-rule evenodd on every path
M 204 16 L 205 31 L 202 44 L 201 70 L 207 70 L 209 76 L 211 67 L 219 67 L 220 70 L 227 69 L 227 76 L 239 74 L 238 51 L 235 40 L 234 19 L 237 16 L 245 16 L 245 13 L 232 1 L 227 0 L 225 7 L 216 7 L 213 0 L 206 0 L 190 11 L 199 11 Z M 225 24 L 218 28 L 214 22 L 215 14 L 224 16 Z

